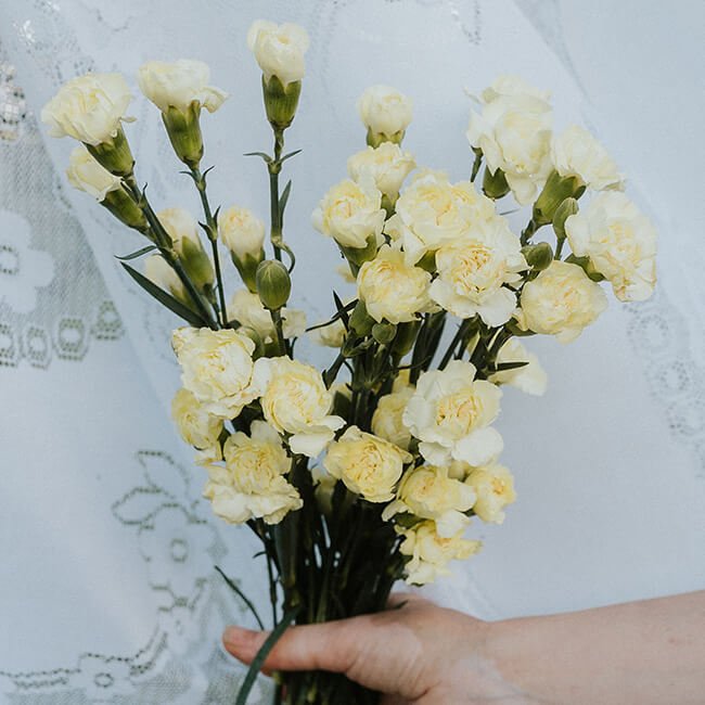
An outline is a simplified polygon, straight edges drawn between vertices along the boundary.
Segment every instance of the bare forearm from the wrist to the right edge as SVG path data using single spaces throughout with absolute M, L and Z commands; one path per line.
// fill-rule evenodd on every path
M 489 657 L 527 703 L 703 703 L 705 591 L 497 623 Z

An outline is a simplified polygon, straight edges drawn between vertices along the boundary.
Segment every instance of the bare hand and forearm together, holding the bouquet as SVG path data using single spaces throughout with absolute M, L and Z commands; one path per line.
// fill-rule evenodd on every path
M 229 627 L 223 643 L 248 664 L 267 633 Z M 380 614 L 292 627 L 264 671 L 310 669 L 382 705 L 702 705 L 705 591 L 495 623 L 394 595 Z

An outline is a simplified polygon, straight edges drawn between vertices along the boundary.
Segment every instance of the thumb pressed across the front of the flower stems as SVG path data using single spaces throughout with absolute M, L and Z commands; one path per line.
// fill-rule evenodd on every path
M 356 619 L 289 628 L 268 655 L 262 670 L 345 672 L 360 655 L 362 640 L 355 638 Z M 249 664 L 268 636 L 267 631 L 228 627 L 222 641 L 229 653 Z

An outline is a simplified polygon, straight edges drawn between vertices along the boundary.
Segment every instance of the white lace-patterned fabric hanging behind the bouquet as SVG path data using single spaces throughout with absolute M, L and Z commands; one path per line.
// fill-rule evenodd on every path
M 431 590 L 488 618 L 705 587 L 702 4 L 517 5 L 310 0 L 266 13 L 304 24 L 312 40 L 287 134 L 305 150 L 290 163 L 287 232 L 309 310 L 324 315 L 320 293 L 339 289 L 337 258 L 309 214 L 362 143 L 354 101 L 372 82 L 413 97 L 407 144 L 418 161 L 463 178 L 462 89 L 520 73 L 553 91 L 556 126 L 581 120 L 600 134 L 659 226 L 657 296 L 613 302 L 568 347 L 529 341 L 549 393 L 504 396 L 503 459 L 518 501 L 502 527 L 473 526 L 484 552 Z M 269 149 L 244 43 L 264 12 L 254 1 L 8 0 L 0 48 L 35 112 L 89 68 L 133 77 L 146 59 L 209 62 L 232 94 L 204 117 L 214 200 L 265 215 L 262 166 L 240 156 Z M 140 178 L 159 206 L 195 210 L 154 110 L 137 100 L 132 114 Z M 219 632 L 247 617 L 213 563 L 265 595 L 253 542 L 210 518 L 201 471 L 167 418 L 175 321 L 116 266 L 137 238 L 64 187 L 67 141 L 44 145 L 31 116 L 20 130 L 0 140 L 0 693 L 23 705 L 228 702 L 233 669 Z

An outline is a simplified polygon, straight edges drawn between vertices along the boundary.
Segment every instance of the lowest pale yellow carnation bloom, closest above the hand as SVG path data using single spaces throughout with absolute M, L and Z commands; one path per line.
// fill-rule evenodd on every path
M 439 576 L 450 575 L 450 561 L 469 559 L 482 548 L 480 541 L 464 539 L 462 530 L 444 538 L 436 530 L 435 522 L 431 521 L 420 522 L 411 528 L 395 526 L 395 530 L 403 536 L 399 551 L 409 557 L 405 566 L 409 585 L 426 585 Z

